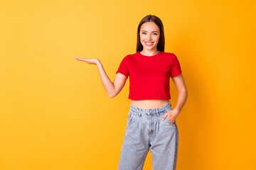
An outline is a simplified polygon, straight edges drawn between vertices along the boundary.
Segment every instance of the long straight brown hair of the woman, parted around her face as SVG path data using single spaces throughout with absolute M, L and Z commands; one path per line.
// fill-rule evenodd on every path
M 137 52 L 140 52 L 143 50 L 143 45 L 140 42 L 139 31 L 140 31 L 140 28 L 142 27 L 142 24 L 146 22 L 154 22 L 159 27 L 160 38 L 157 44 L 157 50 L 164 52 L 164 26 L 163 26 L 163 23 L 161 22 L 161 19 L 153 15 L 145 16 L 144 18 L 142 18 L 142 21 L 139 22 L 138 32 L 137 32 Z

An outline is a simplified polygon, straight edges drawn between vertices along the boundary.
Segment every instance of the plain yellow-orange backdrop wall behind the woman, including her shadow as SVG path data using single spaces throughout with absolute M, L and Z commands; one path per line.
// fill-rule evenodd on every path
M 177 170 L 256 169 L 255 1 L 1 1 L 0 169 L 117 169 L 130 100 L 122 58 L 148 14 L 164 23 L 188 100 L 176 119 Z M 176 87 L 171 81 L 175 108 Z M 151 154 L 144 169 L 151 169 Z

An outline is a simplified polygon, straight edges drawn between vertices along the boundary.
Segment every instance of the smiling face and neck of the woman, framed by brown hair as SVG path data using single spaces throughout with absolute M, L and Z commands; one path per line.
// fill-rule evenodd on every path
M 160 29 L 154 22 L 143 23 L 139 30 L 140 42 L 143 50 L 157 50 L 160 38 Z

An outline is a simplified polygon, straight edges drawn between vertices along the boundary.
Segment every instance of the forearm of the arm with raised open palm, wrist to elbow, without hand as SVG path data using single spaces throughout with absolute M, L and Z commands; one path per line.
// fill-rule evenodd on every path
M 100 79 L 105 88 L 105 91 L 107 92 L 107 95 L 110 98 L 112 98 L 114 96 L 114 84 L 112 83 L 110 78 L 107 76 L 105 69 L 103 68 L 103 65 L 101 62 L 97 62 L 97 68 L 100 72 Z

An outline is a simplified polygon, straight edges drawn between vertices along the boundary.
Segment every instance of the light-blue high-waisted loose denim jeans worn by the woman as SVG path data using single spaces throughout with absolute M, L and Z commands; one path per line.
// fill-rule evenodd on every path
M 147 153 L 152 154 L 153 170 L 175 170 L 178 156 L 178 128 L 164 114 L 171 111 L 169 101 L 160 108 L 130 105 L 118 169 L 143 169 Z

